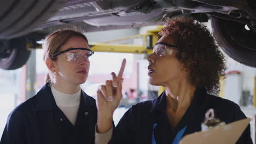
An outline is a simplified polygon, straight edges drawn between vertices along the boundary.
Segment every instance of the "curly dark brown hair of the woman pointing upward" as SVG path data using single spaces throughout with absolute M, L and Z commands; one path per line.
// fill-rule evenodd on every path
M 192 18 L 175 17 L 166 21 L 166 27 L 159 34 L 176 40 L 181 49 L 176 57 L 188 70 L 191 84 L 218 94 L 220 76 L 226 69 L 225 57 L 210 31 Z

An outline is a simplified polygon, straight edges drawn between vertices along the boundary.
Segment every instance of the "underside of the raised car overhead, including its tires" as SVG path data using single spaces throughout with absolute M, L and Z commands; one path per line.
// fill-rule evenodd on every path
M 30 56 L 27 42 L 62 27 L 84 32 L 164 25 L 166 17 L 211 20 L 220 47 L 237 62 L 256 67 L 255 0 L 10 0 L 0 5 L 0 68 L 17 69 Z

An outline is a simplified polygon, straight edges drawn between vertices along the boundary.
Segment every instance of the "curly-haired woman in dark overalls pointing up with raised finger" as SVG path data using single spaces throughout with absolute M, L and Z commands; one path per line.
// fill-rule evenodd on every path
M 209 94 L 218 94 L 226 66 L 206 26 L 178 17 L 168 19 L 159 34 L 162 37 L 148 57 L 148 75 L 151 85 L 163 86 L 165 91 L 154 100 L 133 105 L 113 129 L 109 143 L 178 143 L 183 136 L 201 131 L 209 109 L 226 123 L 246 118 L 237 104 Z M 107 101 L 109 96 L 112 101 Z M 108 110 L 105 117 L 112 119 L 110 107 L 116 108 L 121 97 L 112 85 L 101 86 L 97 98 L 106 103 L 98 111 Z M 98 122 L 97 131 L 109 135 L 112 121 Z M 252 143 L 249 126 L 237 143 Z

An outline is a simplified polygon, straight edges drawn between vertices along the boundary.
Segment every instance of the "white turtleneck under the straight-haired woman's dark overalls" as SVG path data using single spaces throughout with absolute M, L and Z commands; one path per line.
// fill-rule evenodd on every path
M 65 114 L 69 122 L 75 125 L 80 104 L 81 89 L 74 94 L 65 94 L 51 86 L 51 92 L 53 93 L 57 106 Z

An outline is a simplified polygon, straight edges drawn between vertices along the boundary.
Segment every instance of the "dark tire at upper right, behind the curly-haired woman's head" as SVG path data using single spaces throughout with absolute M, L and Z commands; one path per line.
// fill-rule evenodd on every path
M 223 51 L 235 61 L 256 67 L 256 33 L 245 24 L 211 16 L 213 35 Z

